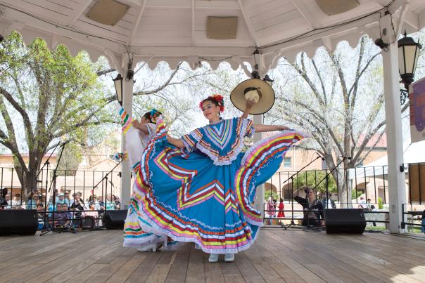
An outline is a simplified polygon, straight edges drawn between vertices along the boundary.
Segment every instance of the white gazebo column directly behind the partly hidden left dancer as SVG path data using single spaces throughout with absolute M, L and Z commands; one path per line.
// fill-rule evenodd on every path
M 125 77 L 125 75 L 123 77 Z M 122 107 L 127 111 L 129 117 L 132 117 L 133 114 L 133 84 L 133 79 L 129 81 L 126 79 L 122 80 Z M 124 135 L 121 135 L 121 152 L 126 152 Z M 131 169 L 127 158 L 121 165 L 121 209 L 128 209 L 131 192 Z

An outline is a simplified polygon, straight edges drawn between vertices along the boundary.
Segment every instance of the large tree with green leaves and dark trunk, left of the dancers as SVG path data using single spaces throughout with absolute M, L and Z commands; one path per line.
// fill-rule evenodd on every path
M 134 95 L 165 88 L 178 70 L 160 86 Z M 106 74 L 86 53 L 72 57 L 65 46 L 50 51 L 42 39 L 25 45 L 14 32 L 0 44 L 0 144 L 12 152 L 25 192 L 37 186 L 46 152 L 61 141 L 87 143 L 91 129 L 118 122 L 115 107 L 108 107 L 115 95 L 98 72 Z M 29 154 L 28 162 L 22 152 Z

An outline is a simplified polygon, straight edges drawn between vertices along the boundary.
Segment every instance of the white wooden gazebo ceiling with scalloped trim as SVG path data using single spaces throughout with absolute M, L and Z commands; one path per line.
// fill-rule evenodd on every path
M 73 54 L 87 51 L 93 60 L 106 55 L 115 67 L 125 64 L 129 52 L 134 62 L 151 68 L 160 61 L 173 68 L 182 60 L 191 67 L 199 61 L 217 67 L 225 60 L 237 68 L 252 63 L 257 48 L 265 65 L 273 67 L 278 58 L 293 60 L 300 51 L 312 55 L 317 47 L 333 49 L 341 40 L 355 46 L 362 34 L 379 37 L 387 6 L 397 22 L 405 5 L 352 0 L 358 6 L 327 15 L 318 3 L 337 0 L 117 0 L 127 12 L 115 25 L 104 25 L 87 18 L 98 1 L 105 0 L 0 0 L 0 32 L 17 30 L 27 42 L 42 37 L 51 48 L 65 44 Z M 406 2 L 403 27 L 414 32 L 425 25 L 425 1 Z M 209 16 L 237 17 L 236 38 L 208 38 Z

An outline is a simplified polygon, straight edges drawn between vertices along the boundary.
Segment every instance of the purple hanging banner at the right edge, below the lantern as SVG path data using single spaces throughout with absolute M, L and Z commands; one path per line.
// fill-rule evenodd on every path
M 410 85 L 410 138 L 412 143 L 425 140 L 425 78 Z

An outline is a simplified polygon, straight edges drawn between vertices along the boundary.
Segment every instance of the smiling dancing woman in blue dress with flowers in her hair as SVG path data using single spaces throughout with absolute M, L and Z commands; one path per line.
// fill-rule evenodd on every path
M 194 242 L 217 262 L 219 254 L 234 254 L 253 244 L 262 226 L 253 207 L 255 187 L 279 169 L 288 148 L 303 138 L 285 126 L 253 125 L 247 101 L 242 117 L 221 119 L 221 96 L 201 102 L 209 124 L 180 139 L 167 135 L 162 121 L 144 150 L 135 180 L 144 195 L 138 204 L 148 232 L 179 242 Z M 254 131 L 281 131 L 242 152 L 243 138 Z M 262 200 L 259 199 L 258 202 Z

